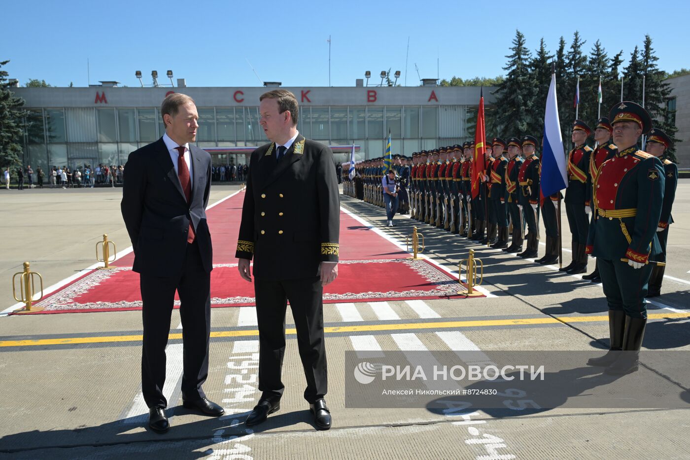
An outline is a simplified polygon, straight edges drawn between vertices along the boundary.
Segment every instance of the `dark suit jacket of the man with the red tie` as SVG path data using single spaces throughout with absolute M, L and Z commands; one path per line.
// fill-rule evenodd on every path
M 135 254 L 132 270 L 137 273 L 179 276 L 184 269 L 190 222 L 202 265 L 211 271 L 213 253 L 206 222 L 211 157 L 191 144 L 189 151 L 194 174 L 189 203 L 162 138 L 128 157 L 121 211 Z

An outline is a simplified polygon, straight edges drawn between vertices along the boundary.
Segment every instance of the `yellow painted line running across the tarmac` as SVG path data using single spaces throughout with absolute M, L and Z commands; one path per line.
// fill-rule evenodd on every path
M 682 313 L 650 313 L 649 319 L 660 318 L 690 318 L 690 312 Z M 462 320 L 462 321 L 434 321 L 430 323 L 402 323 L 402 324 L 372 324 L 372 325 L 347 325 L 324 327 L 326 334 L 343 332 L 375 332 L 375 331 L 401 331 L 409 329 L 449 329 L 453 327 L 491 327 L 491 326 L 529 326 L 544 324 L 568 324 L 568 323 L 596 323 L 598 321 L 608 321 L 609 316 L 560 316 L 559 318 L 515 318 L 497 320 Z M 295 328 L 285 329 L 287 335 L 297 334 Z M 228 337 L 248 337 L 258 336 L 257 330 L 242 331 L 215 331 L 211 332 L 211 338 Z M 47 346 L 47 345 L 80 345 L 86 343 L 117 343 L 117 342 L 141 342 L 143 336 L 93 336 L 93 337 L 64 337 L 64 338 L 39 338 L 36 340 L 23 341 L 0 341 L 0 347 L 28 347 L 28 346 Z M 182 334 L 175 332 L 168 336 L 170 340 L 180 340 Z

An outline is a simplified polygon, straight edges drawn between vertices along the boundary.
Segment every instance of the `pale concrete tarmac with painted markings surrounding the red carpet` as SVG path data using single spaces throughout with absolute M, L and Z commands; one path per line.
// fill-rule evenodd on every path
M 210 204 L 238 189 L 214 186 Z M 662 296 L 648 305 L 644 349 L 690 350 L 689 196 L 690 180 L 680 180 L 667 278 Z M 23 261 L 31 262 L 48 288 L 92 266 L 103 233 L 118 251 L 129 247 L 120 199 L 121 189 L 0 190 L 0 312 L 15 304 L 12 275 Z M 425 256 L 451 271 L 457 272 L 459 260 L 475 249 L 484 262 L 481 289 L 489 295 L 324 305 L 331 430 L 318 432 L 313 426 L 302 396 L 297 343 L 289 333 L 281 410 L 253 429 L 245 427 L 244 418 L 259 398 L 253 307 L 211 311 L 204 390 L 226 408 L 218 419 L 182 408 L 181 329 L 177 310 L 172 313 L 164 389 L 171 428 L 162 435 L 146 430 L 148 416 L 142 415 L 140 312 L 0 316 L 0 459 L 690 459 L 687 409 L 348 407 L 345 353 L 350 350 L 584 350 L 598 356 L 608 346 L 609 331 L 601 285 L 404 216 L 395 218 L 397 227 L 384 227 L 383 209 L 352 198 L 342 197 L 342 208 L 403 247 L 416 225 L 426 238 Z M 568 249 L 564 210 L 562 219 Z M 214 240 L 214 245 L 235 244 Z M 564 264 L 569 262 L 564 251 Z M 594 261 L 589 265 L 591 271 Z M 289 309 L 286 322 L 288 329 L 294 327 Z M 579 362 L 573 367 L 596 369 Z M 672 367 L 647 370 L 675 385 L 681 397 L 689 394 L 690 375 Z

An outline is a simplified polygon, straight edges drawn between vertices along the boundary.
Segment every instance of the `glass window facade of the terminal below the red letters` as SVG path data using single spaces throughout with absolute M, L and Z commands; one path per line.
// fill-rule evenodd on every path
M 242 147 L 264 144 L 257 106 L 198 107 L 197 145 Z M 393 153 L 457 144 L 469 139 L 476 106 L 299 107 L 297 128 L 324 144 L 360 146 L 358 159 L 383 155 L 388 131 Z M 24 135 L 24 164 L 81 166 L 124 164 L 130 152 L 164 133 L 159 108 L 32 108 Z M 471 133 L 470 133 L 471 134 Z M 344 156 L 344 155 L 343 155 Z M 246 155 L 215 155 L 215 163 L 246 162 Z M 344 158 L 338 160 L 346 161 Z

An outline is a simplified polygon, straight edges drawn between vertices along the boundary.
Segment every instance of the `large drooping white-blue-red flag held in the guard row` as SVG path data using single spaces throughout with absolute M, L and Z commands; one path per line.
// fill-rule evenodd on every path
M 558 118 L 555 73 L 551 74 L 549 95 L 546 96 L 543 150 L 542 178 L 540 184 L 542 195 L 546 197 L 568 186 L 565 151 L 563 149 L 563 138 L 560 132 L 560 119 Z

